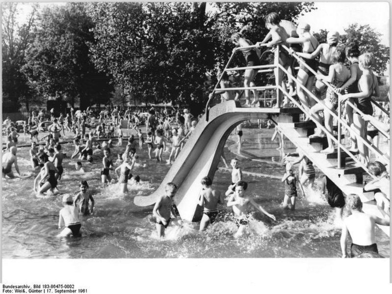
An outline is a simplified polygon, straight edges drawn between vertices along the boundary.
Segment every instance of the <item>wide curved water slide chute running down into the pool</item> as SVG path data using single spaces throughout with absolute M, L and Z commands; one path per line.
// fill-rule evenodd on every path
M 202 188 L 200 181 L 205 176 L 214 178 L 224 144 L 233 129 L 249 119 L 278 120 L 279 116 L 280 121 L 292 122 L 293 115 L 290 113 L 297 114 L 298 109 L 240 107 L 235 101 L 212 107 L 209 120 L 206 121 L 205 115 L 200 119 L 158 189 L 149 196 L 136 196 L 134 203 L 138 206 L 153 205 L 165 193 L 165 185 L 173 182 L 178 187 L 174 202 L 181 218 L 200 220 L 202 212 L 197 206 Z

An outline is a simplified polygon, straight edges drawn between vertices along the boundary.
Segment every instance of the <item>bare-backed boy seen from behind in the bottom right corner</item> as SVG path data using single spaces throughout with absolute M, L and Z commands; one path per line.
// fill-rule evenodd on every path
M 351 215 L 344 219 L 341 229 L 340 247 L 342 258 L 348 257 L 348 235 L 350 235 L 352 240 L 350 257 L 356 257 L 365 251 L 378 253 L 374 226 L 375 224 L 389 226 L 389 217 L 380 218 L 375 215 L 364 214 L 361 199 L 356 194 L 347 196 L 346 207 L 351 211 Z

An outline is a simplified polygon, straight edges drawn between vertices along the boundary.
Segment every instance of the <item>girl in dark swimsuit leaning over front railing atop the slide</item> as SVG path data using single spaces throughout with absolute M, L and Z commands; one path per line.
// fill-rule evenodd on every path
M 241 33 L 233 33 L 231 35 L 231 42 L 237 47 L 245 47 L 253 45 L 251 41 L 245 39 Z M 235 48 L 233 49 L 233 52 Z M 257 55 L 257 52 L 254 48 L 248 49 L 240 49 L 240 51 L 244 54 L 245 60 L 247 62 L 247 66 L 257 66 L 261 65 L 260 59 Z M 254 69 L 246 69 L 244 74 L 244 86 L 245 87 L 255 87 L 256 85 L 253 82 L 254 77 L 257 75 L 258 70 Z M 253 102 L 256 103 L 258 100 L 258 96 L 255 90 L 252 90 L 253 93 Z M 251 99 L 249 97 L 249 90 L 245 90 L 245 105 L 251 106 Z

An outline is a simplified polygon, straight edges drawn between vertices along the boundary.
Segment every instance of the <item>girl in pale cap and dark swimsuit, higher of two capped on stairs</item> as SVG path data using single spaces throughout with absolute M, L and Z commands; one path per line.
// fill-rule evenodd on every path
M 289 44 L 296 44 L 296 43 L 301 44 L 302 51 L 304 53 L 313 53 L 318 46 L 318 41 L 314 36 L 310 34 L 309 31 L 310 31 L 310 26 L 308 24 L 304 24 L 304 23 L 299 24 L 297 28 L 297 33 L 299 35 L 299 38 L 290 37 L 287 38 L 286 42 Z M 305 59 L 304 61 L 314 71 L 317 70 L 317 62 L 314 59 Z M 298 97 L 302 105 L 308 110 L 315 104 L 315 101 L 310 97 L 308 97 L 308 95 L 305 93 L 305 91 L 301 88 L 300 85 L 305 86 L 309 91 L 311 91 L 314 75 L 302 63 L 300 63 L 300 69 L 297 74 L 297 80 L 298 80 L 298 85 L 297 85 Z

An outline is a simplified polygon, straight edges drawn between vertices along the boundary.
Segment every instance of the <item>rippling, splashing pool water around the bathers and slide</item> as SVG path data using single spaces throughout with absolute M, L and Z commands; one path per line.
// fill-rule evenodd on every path
M 198 223 L 174 221 L 166 230 L 165 240 L 157 238 L 152 220 L 152 206 L 138 207 L 133 203 L 135 195 L 148 195 L 157 188 L 169 169 L 166 162 L 149 160 L 146 148 L 137 149 L 140 166 L 131 171 L 140 175 L 141 185 L 128 185 L 130 192 L 119 193 L 118 184 L 102 188 L 100 169 L 102 154 L 94 155 L 92 164 L 83 162 L 85 174 L 75 171 L 77 160 L 65 159 L 64 174 L 59 181 L 60 195 L 37 198 L 32 190 L 34 177 L 2 182 L 2 257 L 3 258 L 260 258 L 260 257 L 340 257 L 340 226 L 334 219 L 334 211 L 318 191 L 322 174 L 316 169 L 315 191 L 307 191 L 307 198 L 300 197 L 296 211 L 280 207 L 284 196 L 284 173 L 281 153 L 271 143 L 271 131 L 244 129 L 241 150 L 237 136 L 231 135 L 224 149 L 226 159 L 237 157 L 240 167 L 252 173 L 271 177 L 244 174 L 249 183 L 246 191 L 277 221 L 253 211 L 247 234 L 235 239 L 237 230 L 232 221 L 232 210 L 220 206 L 221 220 L 209 226 L 203 233 Z M 286 142 L 286 152 L 294 151 Z M 263 156 L 254 151 L 263 149 Z M 62 145 L 68 156 L 73 152 L 71 143 Z M 112 148 L 113 162 L 122 147 Z M 239 151 L 239 152 L 238 152 Z M 260 153 L 260 152 L 259 152 Z M 168 152 L 163 158 L 168 159 Z M 28 147 L 18 149 L 18 162 L 22 172 L 31 171 Z M 145 164 L 145 167 L 142 165 Z M 221 162 L 220 167 L 224 166 Z M 112 173 L 112 172 L 111 172 Z M 112 177 L 114 173 L 112 173 Z M 114 176 L 114 178 L 116 178 Z M 231 182 L 230 172 L 219 169 L 214 178 L 215 188 L 225 191 Z M 62 208 L 61 194 L 79 192 L 78 182 L 86 180 L 92 191 L 94 214 L 81 217 L 82 238 L 56 238 L 58 212 Z M 376 229 L 379 252 L 389 257 L 390 241 Z

